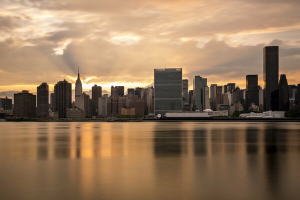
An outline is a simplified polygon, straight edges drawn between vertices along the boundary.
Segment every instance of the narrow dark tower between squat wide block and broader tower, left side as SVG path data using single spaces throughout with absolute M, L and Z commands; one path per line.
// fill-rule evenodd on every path
M 36 87 L 36 116 L 49 116 L 49 86 L 46 82 Z

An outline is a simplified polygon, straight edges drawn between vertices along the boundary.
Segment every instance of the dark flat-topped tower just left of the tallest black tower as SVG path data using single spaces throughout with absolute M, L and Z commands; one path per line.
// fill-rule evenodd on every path
M 246 75 L 246 109 L 251 103 L 259 105 L 258 75 Z

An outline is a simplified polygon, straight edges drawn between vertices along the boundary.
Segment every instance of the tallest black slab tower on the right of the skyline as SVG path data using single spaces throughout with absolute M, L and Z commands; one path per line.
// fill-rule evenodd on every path
M 278 46 L 263 48 L 264 111 L 278 110 Z

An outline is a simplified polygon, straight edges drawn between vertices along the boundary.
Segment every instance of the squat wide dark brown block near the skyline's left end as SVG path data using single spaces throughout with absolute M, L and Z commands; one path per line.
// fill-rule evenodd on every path
M 35 117 L 36 96 L 27 90 L 13 94 L 13 116 Z

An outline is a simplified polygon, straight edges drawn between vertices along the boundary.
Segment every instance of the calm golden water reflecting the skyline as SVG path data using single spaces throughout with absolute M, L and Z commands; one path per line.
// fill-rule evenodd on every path
M 296 122 L 0 122 L 0 199 L 300 199 Z

